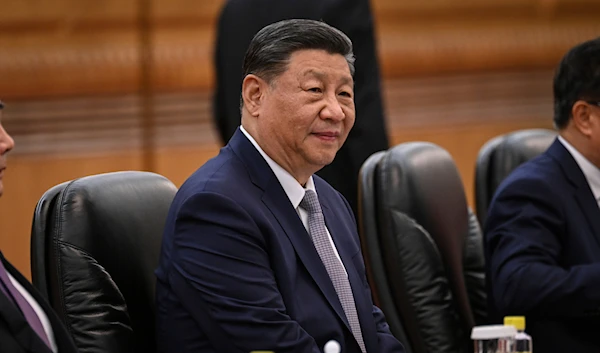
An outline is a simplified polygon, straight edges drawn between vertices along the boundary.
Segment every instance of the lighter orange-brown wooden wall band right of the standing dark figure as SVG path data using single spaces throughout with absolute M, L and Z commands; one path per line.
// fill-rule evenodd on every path
M 600 21 L 397 21 L 378 31 L 384 77 L 404 77 L 553 68 L 570 47 L 597 37 Z

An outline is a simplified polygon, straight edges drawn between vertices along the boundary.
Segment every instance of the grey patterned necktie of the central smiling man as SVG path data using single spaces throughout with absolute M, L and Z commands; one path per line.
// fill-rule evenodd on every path
M 358 313 L 356 311 L 356 304 L 354 303 L 354 294 L 352 293 L 352 287 L 350 287 L 350 281 L 348 275 L 344 271 L 342 262 L 335 256 L 333 246 L 327 236 L 327 227 L 325 226 L 325 217 L 321 211 L 321 205 L 317 194 L 312 190 L 306 190 L 304 198 L 300 202 L 300 207 L 308 212 L 308 230 L 310 236 L 315 244 L 317 253 L 321 258 L 321 261 L 327 269 L 329 278 L 333 283 L 333 288 L 340 299 L 346 318 L 350 324 L 352 335 L 358 342 L 360 350 L 365 353 L 365 342 L 362 337 L 362 331 L 360 329 L 360 322 L 358 321 Z

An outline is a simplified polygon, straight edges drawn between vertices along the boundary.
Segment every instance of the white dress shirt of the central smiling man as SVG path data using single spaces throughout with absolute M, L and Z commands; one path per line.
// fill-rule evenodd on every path
M 265 151 L 262 150 L 262 148 L 260 148 L 258 143 L 254 140 L 254 138 L 252 136 L 250 136 L 250 134 L 246 131 L 246 129 L 244 129 L 243 126 L 240 126 L 240 130 L 248 138 L 248 140 L 250 140 L 250 142 L 254 145 L 254 147 L 256 148 L 258 153 L 260 153 L 260 155 L 263 156 L 263 158 L 265 159 L 265 161 L 267 162 L 269 167 L 271 167 L 271 170 L 277 177 L 277 180 L 279 180 L 281 187 L 283 187 L 283 190 L 285 191 L 286 195 L 290 199 L 292 206 L 294 206 L 296 213 L 298 213 L 300 220 L 302 220 L 302 224 L 304 224 L 304 228 L 306 228 L 306 231 L 308 232 L 308 212 L 306 212 L 306 210 L 304 210 L 302 207 L 298 207 L 298 206 L 300 205 L 300 202 L 302 202 L 302 199 L 304 198 L 304 193 L 306 192 L 305 190 L 312 190 L 315 192 L 315 194 L 317 193 L 317 190 L 315 189 L 315 183 L 313 181 L 312 176 L 310 178 L 308 178 L 308 181 L 306 182 L 306 188 L 302 187 L 302 185 L 300 185 L 300 183 L 287 170 L 283 169 L 271 157 L 269 157 L 265 153 Z M 340 258 L 340 254 L 338 253 L 337 248 L 335 247 L 335 243 L 333 242 L 333 239 L 331 238 L 329 229 L 327 229 L 327 238 L 329 239 L 329 242 L 331 243 L 331 246 L 333 247 L 333 252 L 335 253 L 335 256 L 342 264 L 342 267 L 344 268 L 344 272 L 345 272 L 346 267 L 344 266 L 344 263 L 342 262 L 342 259 Z M 346 275 L 348 275 L 348 272 L 346 272 Z

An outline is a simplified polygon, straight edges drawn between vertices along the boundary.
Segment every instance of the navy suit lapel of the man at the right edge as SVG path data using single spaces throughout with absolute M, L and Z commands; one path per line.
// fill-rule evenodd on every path
M 573 156 L 571 156 L 571 153 L 569 153 L 558 139 L 548 148 L 547 153 L 559 163 L 563 173 L 575 187 L 575 200 L 581 209 L 581 213 L 585 215 L 591 231 L 600 246 L 600 208 L 598 208 L 598 202 L 594 198 L 585 175 Z

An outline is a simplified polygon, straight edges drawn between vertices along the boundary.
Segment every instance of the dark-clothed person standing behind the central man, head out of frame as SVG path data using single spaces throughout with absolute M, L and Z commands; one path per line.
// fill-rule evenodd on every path
M 248 44 L 264 26 L 290 18 L 322 20 L 352 40 L 356 121 L 333 162 L 317 175 L 344 195 L 356 216 L 358 172 L 371 154 L 389 147 L 369 0 L 228 0 L 219 17 L 215 42 L 213 118 L 226 144 L 240 125 L 242 61 Z

